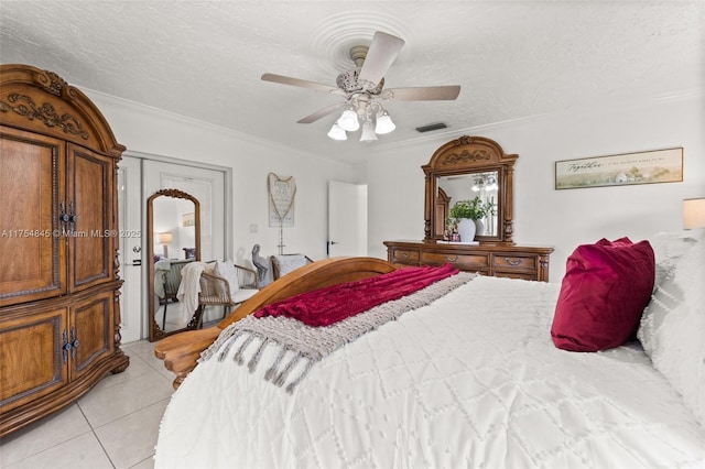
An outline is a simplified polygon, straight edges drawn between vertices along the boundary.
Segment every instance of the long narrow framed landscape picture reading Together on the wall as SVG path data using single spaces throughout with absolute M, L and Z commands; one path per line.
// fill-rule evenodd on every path
M 683 181 L 683 148 L 622 153 L 555 163 L 555 188 L 679 183 Z

